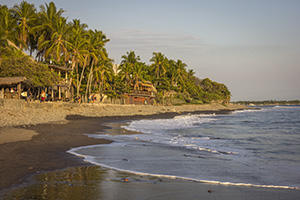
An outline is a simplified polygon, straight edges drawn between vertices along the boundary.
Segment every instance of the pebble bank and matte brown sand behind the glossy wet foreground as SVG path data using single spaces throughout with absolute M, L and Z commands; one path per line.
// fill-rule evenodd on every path
M 85 111 L 85 115 L 78 115 L 83 112 L 85 106 L 80 106 L 82 110 L 77 108 L 76 112 L 71 113 L 72 115 L 67 115 L 70 113 L 69 110 L 57 111 L 54 109 L 51 113 L 54 117 L 57 113 L 58 117 L 55 118 L 56 121 L 53 121 L 53 116 L 49 113 L 46 117 L 36 114 L 40 113 L 40 110 L 48 110 L 47 106 L 47 104 L 40 104 L 39 108 L 30 108 L 32 117 L 29 120 L 2 118 L 2 125 L 9 122 L 18 126 L 0 127 L 0 139 L 2 141 L 0 144 L 0 190 L 18 185 L 28 176 L 36 173 L 71 166 L 91 165 L 82 161 L 81 158 L 67 153 L 67 151 L 74 147 L 109 143 L 110 141 L 93 139 L 85 135 L 107 129 L 108 127 L 103 125 L 104 122 L 141 118 L 172 118 L 190 112 L 227 113 L 232 110 L 246 108 L 234 105 L 226 107 L 217 104 L 175 106 L 175 108 L 166 106 L 92 105 L 89 106 L 90 109 Z M 99 108 L 102 108 L 101 112 L 96 112 Z M 59 109 L 59 107 L 56 109 Z M 7 114 L 7 110 L 9 109 L 2 109 L 1 115 Z M 28 111 L 28 108 L 16 109 L 15 115 L 23 113 L 22 115 L 26 116 Z M 88 111 L 90 113 L 87 113 Z M 61 115 L 61 113 L 64 114 Z M 64 118 L 60 118 L 64 115 L 66 115 Z M 36 124 L 35 121 L 30 121 L 37 117 L 40 117 L 44 123 Z M 25 124 L 21 122 L 25 122 Z M 25 133 L 26 137 L 20 133 Z

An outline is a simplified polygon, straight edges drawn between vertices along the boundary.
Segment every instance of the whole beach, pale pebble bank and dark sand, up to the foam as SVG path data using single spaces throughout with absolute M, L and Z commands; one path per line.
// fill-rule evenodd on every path
M 109 140 L 94 139 L 86 136 L 86 134 L 93 134 L 95 132 L 107 133 L 107 130 L 114 130 L 107 127 L 108 123 L 131 119 L 172 118 L 189 112 L 228 113 L 232 110 L 245 109 L 243 106 L 224 106 L 219 104 L 174 107 L 85 105 L 81 106 L 84 107 L 82 109 L 75 105 L 72 109 L 55 108 L 57 110 L 53 109 L 53 107 L 49 109 L 48 106 L 41 104 L 37 109 L 31 107 L 30 119 L 32 121 L 21 117 L 18 120 L 16 118 L 2 117 L 4 120 L 2 120 L 2 127 L 0 128 L 1 195 L 5 195 L 7 192 L 8 194 L 13 194 L 13 191 L 18 191 L 20 184 L 24 183 L 28 184 L 29 188 L 34 189 L 35 185 L 30 184 L 32 175 L 38 174 L 38 176 L 54 176 L 57 178 L 58 175 L 68 174 L 70 178 L 74 173 L 78 174 L 82 171 L 90 173 L 88 169 L 91 169 L 91 171 L 96 170 L 98 176 L 89 176 L 90 178 L 84 181 L 97 182 L 98 184 L 100 181 L 103 189 L 106 191 L 101 196 L 104 199 L 128 199 L 126 195 L 127 197 L 128 195 L 132 196 L 129 199 L 174 199 L 175 197 L 181 199 L 187 193 L 190 199 L 197 199 L 199 196 L 204 199 L 240 199 L 241 197 L 243 199 L 286 199 L 286 197 L 296 199 L 296 197 L 299 197 L 298 190 L 221 186 L 159 177 L 140 177 L 111 169 L 95 167 L 90 163 L 84 162 L 82 158 L 67 153 L 68 150 L 75 147 L 110 143 L 111 141 Z M 24 112 L 27 109 L 24 107 L 23 110 L 14 110 L 13 113 L 16 116 L 26 116 L 29 115 Z M 6 107 L 2 109 L 1 115 L 6 116 L 7 113 L 5 112 L 12 112 L 12 110 L 12 108 Z M 35 116 L 35 113 L 40 113 L 39 111 L 41 110 L 49 111 L 48 115 L 37 114 L 40 117 Z M 52 111 L 50 112 L 50 110 Z M 56 115 L 58 117 L 55 117 Z M 43 119 L 43 121 L 35 119 Z M 6 126 L 3 126 L 3 124 Z M 130 131 L 126 132 L 123 129 L 120 132 L 122 132 L 120 134 L 131 134 Z M 113 131 L 110 134 L 119 133 L 118 131 Z M 99 170 L 106 174 L 106 178 L 104 175 L 101 175 L 102 173 Z M 126 179 L 128 181 L 124 181 Z M 54 187 L 57 187 L 57 183 L 60 183 L 60 179 L 55 180 L 54 178 L 51 180 L 54 183 L 48 181 L 48 186 L 53 183 Z M 75 184 L 72 183 L 75 180 L 71 178 L 68 181 L 65 183 L 69 186 Z M 60 186 L 59 188 L 62 189 L 64 187 L 66 186 Z M 70 191 L 72 188 L 74 187 L 70 187 Z M 110 196 L 110 190 L 117 191 L 114 192 L 116 196 Z M 166 193 L 169 193 L 169 195 L 166 195 Z M 21 193 L 21 195 L 24 195 L 24 193 Z M 94 199 L 99 198 L 100 196 L 95 196 Z M 71 198 L 68 196 L 63 198 L 61 196 L 60 199 Z

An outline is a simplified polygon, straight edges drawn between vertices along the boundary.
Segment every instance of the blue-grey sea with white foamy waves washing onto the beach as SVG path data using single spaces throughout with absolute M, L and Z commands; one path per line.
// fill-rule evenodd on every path
M 135 135 L 69 151 L 120 171 L 225 185 L 300 189 L 300 106 L 128 121 Z

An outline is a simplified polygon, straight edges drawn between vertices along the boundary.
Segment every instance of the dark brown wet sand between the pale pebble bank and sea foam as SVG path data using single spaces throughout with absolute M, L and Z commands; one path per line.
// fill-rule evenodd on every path
M 93 166 L 66 152 L 74 147 L 109 143 L 85 135 L 108 129 L 103 124 L 175 115 L 68 116 L 67 123 L 19 127 L 38 135 L 29 141 L 0 144 L 0 199 L 300 199 L 299 190 L 224 186 L 123 173 Z

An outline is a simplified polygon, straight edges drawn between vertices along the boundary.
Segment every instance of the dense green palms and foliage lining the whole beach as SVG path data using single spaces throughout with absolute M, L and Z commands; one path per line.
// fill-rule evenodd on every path
M 142 62 L 134 51 L 127 52 L 122 56 L 118 73 L 114 73 L 113 60 L 105 48 L 109 42 L 106 35 L 102 31 L 88 29 L 87 24 L 79 19 L 67 22 L 62 16 L 64 12 L 63 9 L 58 10 L 53 2 L 41 5 L 39 11 L 34 4 L 26 1 L 10 9 L 0 5 L 0 51 L 7 52 L 8 44 L 12 42 L 21 50 L 30 52 L 30 56 L 36 55 L 39 63 L 51 61 L 70 68 L 70 87 L 74 88 L 75 97 L 82 95 L 87 99 L 91 93 L 101 93 L 121 98 L 124 93 L 138 90 L 139 82 L 149 81 L 157 89 L 158 103 L 230 100 L 231 94 L 224 84 L 208 78 L 200 80 L 183 61 L 170 60 L 160 52 L 153 53 L 149 65 Z M 48 76 L 50 82 L 57 81 L 46 69 L 45 74 L 37 73 L 36 66 L 25 60 L 1 58 L 0 76 L 24 75 L 35 80 Z M 35 85 L 47 86 L 50 82 L 40 81 Z

